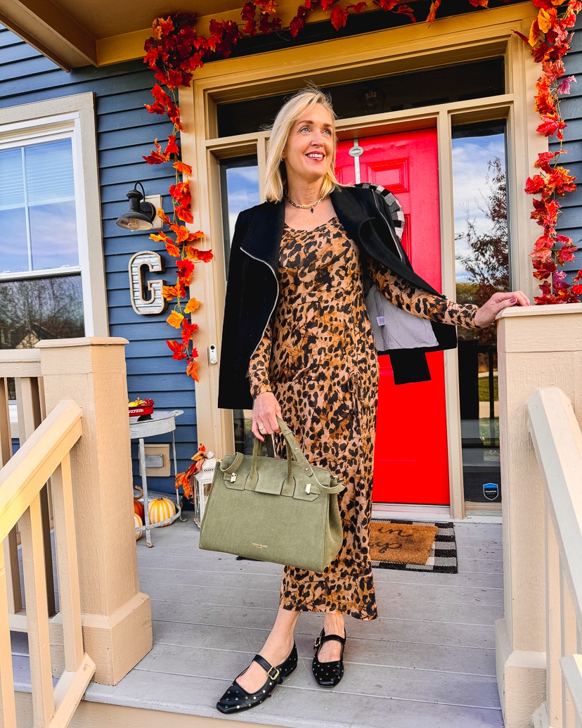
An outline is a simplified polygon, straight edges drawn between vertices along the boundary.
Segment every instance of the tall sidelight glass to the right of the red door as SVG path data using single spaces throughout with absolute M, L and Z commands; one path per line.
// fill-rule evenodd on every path
M 481 305 L 509 290 L 505 122 L 453 127 L 453 189 L 457 301 Z M 495 327 L 458 334 L 465 499 L 500 501 Z

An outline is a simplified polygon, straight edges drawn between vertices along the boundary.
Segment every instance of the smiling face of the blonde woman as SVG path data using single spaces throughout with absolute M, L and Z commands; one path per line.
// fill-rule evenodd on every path
M 321 104 L 308 109 L 291 127 L 282 157 L 290 184 L 323 179 L 335 147 L 332 118 Z

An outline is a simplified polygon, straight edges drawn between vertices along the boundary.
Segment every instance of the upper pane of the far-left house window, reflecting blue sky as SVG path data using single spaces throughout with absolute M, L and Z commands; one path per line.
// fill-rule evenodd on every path
M 1 272 L 79 265 L 71 139 L 0 151 L 0 231 Z

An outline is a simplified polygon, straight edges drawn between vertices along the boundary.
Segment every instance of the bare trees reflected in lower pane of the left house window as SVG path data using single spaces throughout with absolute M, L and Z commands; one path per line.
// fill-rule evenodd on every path
M 0 348 L 84 336 L 81 277 L 0 281 Z

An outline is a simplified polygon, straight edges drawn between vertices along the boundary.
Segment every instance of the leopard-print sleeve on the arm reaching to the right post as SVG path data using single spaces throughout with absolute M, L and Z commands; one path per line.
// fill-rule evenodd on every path
M 404 278 L 392 273 L 377 261 L 368 261 L 368 274 L 375 285 L 399 309 L 432 321 L 453 324 L 463 328 L 479 328 L 475 325 L 475 314 L 479 306 L 455 304 L 447 298 L 434 296 L 426 290 L 415 288 Z

